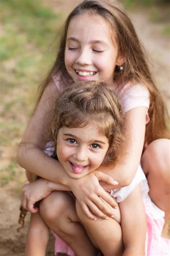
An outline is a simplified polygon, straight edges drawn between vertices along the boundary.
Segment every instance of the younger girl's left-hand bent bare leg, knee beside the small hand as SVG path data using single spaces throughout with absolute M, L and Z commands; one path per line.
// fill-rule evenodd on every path
M 76 214 L 75 199 L 67 192 L 54 191 L 40 204 L 40 213 L 46 224 L 79 256 L 96 256 L 91 243 Z

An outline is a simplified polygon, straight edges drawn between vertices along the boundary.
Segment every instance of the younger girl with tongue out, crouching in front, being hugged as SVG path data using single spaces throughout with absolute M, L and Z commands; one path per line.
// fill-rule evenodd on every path
M 115 164 L 120 152 L 123 154 L 123 108 L 117 95 L 106 84 L 79 83 L 65 90 L 56 101 L 52 120 L 53 136 L 48 136 L 48 140 L 52 139 L 55 143 L 48 143 L 49 147 L 54 147 L 46 149 L 46 152 L 51 155 L 54 151 L 53 157 L 57 154 L 57 159 L 72 179 L 78 180 L 92 171 L 98 176 L 100 171 L 95 170 L 103 161 L 109 168 L 109 163 Z M 106 174 L 105 176 L 108 178 Z M 142 180 L 146 178 L 139 167 L 131 185 L 112 190 L 112 196 L 120 202 L 120 210 L 112 209 L 115 211 L 114 216 L 107 221 L 90 220 L 91 230 L 94 229 L 95 235 L 89 230 L 89 224 L 85 223 L 84 227 L 80 224 L 81 219 L 77 216 L 76 209 L 77 212 L 81 209 L 78 202 L 75 205 L 73 194 L 56 191 L 53 195 L 57 198 L 58 215 L 55 213 L 56 221 L 49 227 L 79 256 L 97 255 L 96 247 L 104 255 L 144 255 L 146 219 L 138 185 Z M 108 180 L 109 183 L 112 185 Z M 48 184 L 52 189 L 68 189 L 64 186 L 61 188 L 60 184 Z M 136 211 L 136 207 L 140 212 Z M 48 210 L 52 211 L 52 208 Z M 43 215 L 43 211 L 41 214 Z M 80 215 L 82 218 L 83 214 Z M 39 213 L 33 214 L 25 256 L 45 255 L 46 230 Z M 71 248 L 56 236 L 55 252 L 75 255 Z

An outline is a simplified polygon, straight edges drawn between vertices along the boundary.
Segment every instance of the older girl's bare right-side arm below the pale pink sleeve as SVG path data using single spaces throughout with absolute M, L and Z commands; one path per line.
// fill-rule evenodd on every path
M 125 187 L 131 183 L 141 160 L 145 139 L 146 107 L 136 107 L 126 113 L 126 154 L 112 168 L 100 166 L 98 170 L 107 173 L 119 182 L 117 187 Z M 107 184 L 100 183 L 105 190 L 110 189 Z

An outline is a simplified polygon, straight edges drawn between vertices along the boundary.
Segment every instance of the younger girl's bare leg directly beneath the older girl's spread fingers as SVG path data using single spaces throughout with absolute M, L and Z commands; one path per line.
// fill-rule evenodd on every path
M 76 200 L 77 214 L 85 226 L 91 241 L 103 252 L 104 256 L 121 256 L 123 255 L 124 246 L 122 239 L 119 208 L 115 210 L 115 218 L 103 220 L 98 217 L 97 220 L 89 219 Z

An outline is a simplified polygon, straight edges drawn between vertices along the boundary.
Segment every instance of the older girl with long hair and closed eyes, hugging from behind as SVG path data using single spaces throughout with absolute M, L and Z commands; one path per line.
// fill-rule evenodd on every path
M 103 166 L 100 170 L 119 182 L 111 188 L 121 188 L 131 183 L 141 160 L 153 206 L 165 212 L 167 224 L 169 134 L 165 123 L 166 111 L 134 27 L 122 6 L 114 0 L 85 0 L 70 13 L 55 64 L 41 86 L 36 109 L 18 150 L 18 162 L 27 171 L 66 185 L 89 218 L 99 216 L 105 219 L 113 213 L 101 198 L 109 205 L 115 205 L 104 191 L 111 188 L 105 182 L 99 184 L 95 172 L 75 180 L 65 175 L 62 165 L 55 159 L 44 159 L 42 141 L 46 128 L 51 124 L 49 113 L 53 99 L 62 91 L 61 81 L 70 79 L 104 81 L 119 91 L 126 112 L 127 153 L 109 170 Z M 23 190 L 23 206 L 37 212 L 38 209 L 33 208 L 34 203 L 50 192 L 41 189 L 36 194 L 33 193 L 34 184 L 30 187 L 27 192 Z M 53 205 L 53 214 L 46 212 L 46 216 L 43 215 L 48 223 L 54 223 L 56 219 L 56 200 L 52 194 L 44 200 L 44 210 Z M 162 212 L 155 218 L 161 219 Z M 167 235 L 165 228 L 164 236 Z

